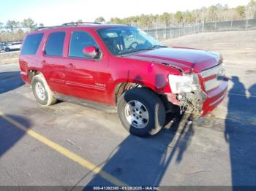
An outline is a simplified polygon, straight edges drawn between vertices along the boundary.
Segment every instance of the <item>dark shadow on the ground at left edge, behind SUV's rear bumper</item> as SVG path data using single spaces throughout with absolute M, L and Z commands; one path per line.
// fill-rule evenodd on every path
M 0 94 L 15 90 L 22 85 L 24 82 L 20 78 L 20 71 L 0 72 Z

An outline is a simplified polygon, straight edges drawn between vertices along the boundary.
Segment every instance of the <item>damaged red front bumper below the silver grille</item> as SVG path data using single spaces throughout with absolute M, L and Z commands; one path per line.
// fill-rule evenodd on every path
M 214 108 L 223 101 L 225 95 L 227 95 L 227 86 L 228 81 L 223 81 L 217 89 L 212 90 L 207 94 L 208 98 L 203 101 L 201 113 L 202 117 L 205 116 L 208 112 L 212 112 Z

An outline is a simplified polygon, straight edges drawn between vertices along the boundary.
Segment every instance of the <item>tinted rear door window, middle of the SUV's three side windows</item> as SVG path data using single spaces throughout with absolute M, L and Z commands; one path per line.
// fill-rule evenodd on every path
M 65 33 L 50 34 L 45 46 L 45 55 L 62 56 Z

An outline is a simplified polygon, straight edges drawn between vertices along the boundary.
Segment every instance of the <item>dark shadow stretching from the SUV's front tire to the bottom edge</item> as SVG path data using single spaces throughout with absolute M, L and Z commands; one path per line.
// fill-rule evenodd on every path
M 159 186 L 170 163 L 180 163 L 189 146 L 194 130 L 192 124 L 187 124 L 188 117 L 169 113 L 165 128 L 156 136 L 146 139 L 127 136 L 99 166 L 103 165 L 102 171 L 129 186 Z M 90 190 L 88 186 L 115 185 L 100 174 L 96 174 L 84 190 Z M 83 176 L 71 190 L 75 190 L 87 176 L 89 174 Z

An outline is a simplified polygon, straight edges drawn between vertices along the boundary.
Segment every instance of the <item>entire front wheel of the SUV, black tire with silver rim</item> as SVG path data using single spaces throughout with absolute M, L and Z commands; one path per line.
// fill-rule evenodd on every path
M 152 136 L 165 124 L 165 106 L 146 87 L 127 90 L 118 100 L 118 116 L 125 129 L 135 136 Z

